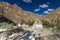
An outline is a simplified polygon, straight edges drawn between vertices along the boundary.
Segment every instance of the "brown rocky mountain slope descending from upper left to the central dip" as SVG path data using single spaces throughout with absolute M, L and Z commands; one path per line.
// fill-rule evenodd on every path
M 0 2 L 0 15 L 14 23 L 20 21 L 28 22 L 38 20 L 40 17 L 32 12 L 27 12 L 18 7 L 16 4 L 11 5 L 7 2 Z

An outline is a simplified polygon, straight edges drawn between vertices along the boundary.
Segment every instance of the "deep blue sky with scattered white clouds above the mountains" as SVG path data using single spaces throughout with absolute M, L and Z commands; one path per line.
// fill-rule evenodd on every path
M 17 4 L 23 10 L 36 14 L 47 14 L 60 7 L 60 0 L 0 0 L 0 2 Z

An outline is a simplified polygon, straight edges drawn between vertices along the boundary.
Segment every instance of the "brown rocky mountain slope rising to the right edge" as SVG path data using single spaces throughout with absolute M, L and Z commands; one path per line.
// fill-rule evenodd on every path
M 43 16 L 43 19 L 51 23 L 56 23 L 57 21 L 60 21 L 60 7 L 53 12 L 50 12 L 49 14 Z

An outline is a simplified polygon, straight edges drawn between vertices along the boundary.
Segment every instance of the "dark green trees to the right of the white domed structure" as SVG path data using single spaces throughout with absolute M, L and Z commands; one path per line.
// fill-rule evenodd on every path
M 49 23 L 48 21 L 42 21 L 44 28 L 54 28 L 60 29 L 60 20 L 57 19 L 57 24 Z

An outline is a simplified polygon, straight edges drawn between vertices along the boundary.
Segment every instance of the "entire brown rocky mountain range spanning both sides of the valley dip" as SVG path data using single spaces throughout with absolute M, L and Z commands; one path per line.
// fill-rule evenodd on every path
M 55 23 L 57 21 L 58 16 L 60 15 L 60 8 L 57 8 L 53 12 L 40 16 L 32 12 L 27 12 L 18 7 L 16 4 L 9 4 L 7 2 L 0 2 L 0 20 L 8 19 L 14 23 L 19 23 L 20 21 L 28 22 L 28 21 L 40 21 L 46 20 L 51 23 Z M 60 17 L 59 17 L 60 18 Z

